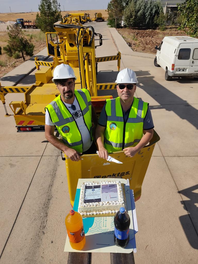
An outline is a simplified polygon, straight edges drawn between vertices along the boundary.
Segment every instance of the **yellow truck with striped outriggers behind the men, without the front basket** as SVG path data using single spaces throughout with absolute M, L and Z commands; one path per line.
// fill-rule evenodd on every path
M 80 16 L 80 15 L 79 15 Z M 120 53 L 115 56 L 96 58 L 95 35 L 92 26 L 83 27 L 72 15 L 65 16 L 63 21 L 54 24 L 55 32 L 46 32 L 48 54 L 53 56 L 53 62 L 43 62 L 35 58 L 37 72 L 36 82 L 31 86 L 0 85 L 0 99 L 5 106 L 6 93 L 24 93 L 24 101 L 12 101 L 9 105 L 14 113 L 17 132 L 44 131 L 45 107 L 58 93 L 52 82 L 53 69 L 61 64 L 69 64 L 77 76 L 76 89 L 87 88 L 92 96 L 93 105 L 99 113 L 105 100 L 110 96 L 97 96 L 97 90 L 114 89 L 115 83 L 97 83 L 97 63 L 117 60 L 117 69 L 120 69 Z M 102 35 L 99 34 L 99 43 L 102 45 Z M 99 46 L 99 45 L 98 45 Z

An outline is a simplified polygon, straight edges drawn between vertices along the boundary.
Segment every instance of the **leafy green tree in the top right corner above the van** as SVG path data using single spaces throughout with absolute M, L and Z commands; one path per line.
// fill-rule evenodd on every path
M 178 11 L 182 16 L 181 26 L 178 29 L 185 30 L 191 37 L 198 37 L 198 0 L 186 0 L 185 3 L 178 4 Z

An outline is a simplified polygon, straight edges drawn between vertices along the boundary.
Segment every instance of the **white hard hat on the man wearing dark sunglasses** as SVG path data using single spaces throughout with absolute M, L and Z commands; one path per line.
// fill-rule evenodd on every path
M 138 80 L 135 72 L 126 68 L 118 73 L 115 83 L 138 83 Z

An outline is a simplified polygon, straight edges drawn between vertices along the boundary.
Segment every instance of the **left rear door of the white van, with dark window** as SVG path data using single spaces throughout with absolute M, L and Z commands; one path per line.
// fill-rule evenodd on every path
M 191 54 L 193 50 L 192 46 L 192 43 L 181 43 L 179 45 L 175 59 L 176 73 L 189 73 Z

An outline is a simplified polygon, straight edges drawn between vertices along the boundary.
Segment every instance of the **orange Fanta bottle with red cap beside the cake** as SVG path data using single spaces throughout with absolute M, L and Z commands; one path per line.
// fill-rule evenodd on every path
M 81 250 L 86 241 L 82 216 L 78 212 L 70 210 L 69 214 L 65 217 L 65 225 L 71 247 Z

